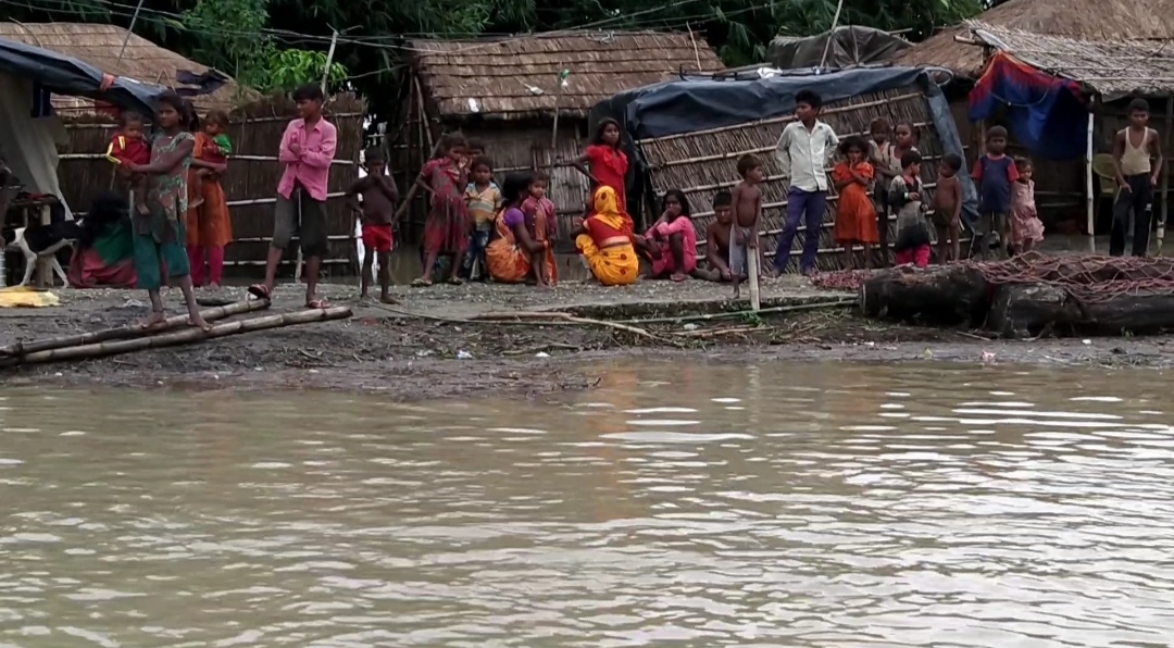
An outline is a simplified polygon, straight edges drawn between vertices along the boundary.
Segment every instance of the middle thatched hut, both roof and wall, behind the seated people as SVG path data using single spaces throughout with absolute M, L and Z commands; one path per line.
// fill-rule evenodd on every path
M 460 129 L 485 144 L 499 180 L 524 169 L 549 173 L 560 232 L 569 232 L 582 214 L 588 187 L 579 171 L 554 161 L 582 151 L 593 106 L 682 74 L 726 69 L 709 43 L 690 33 L 558 32 L 410 45 L 413 80 L 402 120 L 405 144 L 392 160 L 409 169 L 405 182 L 432 155 L 440 133 Z M 571 75 L 560 89 L 562 70 Z M 419 202 L 411 211 L 409 239 L 419 234 L 423 217 Z M 568 243 L 561 241 L 565 248 Z

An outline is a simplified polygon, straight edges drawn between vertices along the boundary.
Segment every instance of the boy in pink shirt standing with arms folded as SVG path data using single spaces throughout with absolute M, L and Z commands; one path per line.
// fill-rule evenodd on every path
M 322 116 L 325 97 L 322 88 L 308 83 L 294 90 L 299 119 L 285 127 L 277 158 L 285 173 L 277 183 L 277 207 L 274 214 L 274 239 L 265 261 L 265 282 L 249 286 L 258 299 L 269 299 L 277 282 L 277 264 L 294 236 L 298 236 L 305 258 L 305 305 L 326 308 L 317 297 L 318 270 L 326 255 L 326 181 L 335 161 L 338 131 Z

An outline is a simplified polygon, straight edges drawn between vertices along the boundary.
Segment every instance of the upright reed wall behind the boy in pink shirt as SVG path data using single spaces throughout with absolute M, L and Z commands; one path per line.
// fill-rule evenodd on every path
M 356 269 L 353 217 L 346 210 L 343 194 L 357 177 L 364 115 L 363 101 L 351 95 L 335 97 L 326 107 L 326 119 L 338 128 L 328 202 L 330 255 L 323 259 L 324 272 L 331 276 L 352 275 Z M 286 97 L 230 113 L 228 136 L 234 155 L 222 181 L 232 217 L 234 242 L 225 250 L 229 276 L 256 277 L 263 271 L 274 235 L 277 182 L 284 169 L 277 161 L 277 148 L 286 123 L 295 116 L 296 108 Z M 58 176 L 68 204 L 83 210 L 95 193 L 112 184 L 113 168 L 102 153 L 115 126 L 94 116 L 89 121 L 67 122 L 66 129 L 69 144 L 61 153 Z M 296 258 L 296 250 L 288 250 L 284 261 L 288 274 L 292 275 Z

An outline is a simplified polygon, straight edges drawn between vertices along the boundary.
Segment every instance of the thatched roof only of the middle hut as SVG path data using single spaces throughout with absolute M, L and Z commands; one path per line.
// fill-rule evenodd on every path
M 679 75 L 724 69 L 703 39 L 688 33 L 559 32 L 501 40 L 411 42 L 414 69 L 441 119 L 586 117 L 615 93 Z M 571 72 L 558 93 L 559 73 Z

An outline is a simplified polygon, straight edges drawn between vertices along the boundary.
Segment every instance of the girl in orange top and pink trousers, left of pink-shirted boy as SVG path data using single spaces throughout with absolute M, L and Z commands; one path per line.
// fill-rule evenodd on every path
M 232 221 L 220 178 L 228 169 L 224 128 L 228 115 L 212 110 L 204 117 L 204 127 L 196 133 L 196 148 L 188 170 L 188 262 L 191 264 L 191 284 L 196 288 L 220 288 L 224 281 L 224 248 L 232 242 Z M 229 148 L 229 150 L 225 150 Z M 208 282 L 204 282 L 207 254 Z

